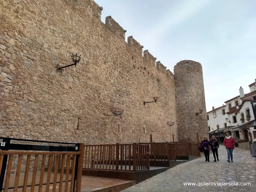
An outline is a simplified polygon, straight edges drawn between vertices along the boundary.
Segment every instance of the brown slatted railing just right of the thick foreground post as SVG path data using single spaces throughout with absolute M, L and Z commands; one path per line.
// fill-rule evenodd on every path
M 141 144 L 85 145 L 84 169 L 137 171 L 149 169 L 149 146 Z

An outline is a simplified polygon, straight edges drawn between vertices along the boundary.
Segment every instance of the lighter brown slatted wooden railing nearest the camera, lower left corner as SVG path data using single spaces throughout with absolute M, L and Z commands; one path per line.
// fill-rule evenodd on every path
M 83 145 L 82 145 L 83 146 Z M 13 191 L 18 191 L 18 188 L 23 188 L 22 191 L 49 191 L 49 187 L 52 184 L 52 191 L 56 191 L 57 183 L 59 183 L 59 189 L 57 191 L 61 192 L 63 189 L 65 191 L 73 192 L 73 186 L 75 181 L 75 164 L 76 159 L 79 158 L 78 162 L 81 162 L 81 157 L 79 156 L 81 152 L 28 152 L 28 151 L 0 151 L 0 170 L 3 164 L 4 155 L 8 155 L 8 166 L 7 173 L 4 180 L 4 192 L 7 192 L 8 189 L 13 189 Z M 13 159 L 15 156 L 18 156 L 18 163 L 15 165 L 16 174 L 11 174 L 13 171 Z M 56 157 L 54 163 L 54 173 L 52 175 L 52 162 L 53 156 Z M 25 172 L 20 174 L 22 159 L 26 159 Z M 30 172 L 30 164 L 33 164 L 33 171 Z M 38 166 L 39 164 L 39 166 Z M 70 167 L 71 164 L 71 167 Z M 58 168 L 60 166 L 60 174 L 58 174 Z M 45 168 L 48 168 L 48 171 L 45 172 Z M 78 165 L 79 167 L 79 165 Z M 64 169 L 66 168 L 66 173 L 64 174 Z M 39 171 L 38 171 L 39 170 Z M 45 174 L 47 175 L 45 177 Z M 70 175 L 71 174 L 71 175 Z M 77 170 L 77 191 L 80 191 L 79 184 L 81 180 L 82 172 Z M 53 177 L 52 177 L 53 176 Z M 23 181 L 22 178 L 24 177 Z M 39 177 L 39 182 L 36 177 Z M 65 185 L 63 184 L 65 183 Z M 35 190 L 35 187 L 38 187 Z M 30 188 L 27 189 L 27 188 Z

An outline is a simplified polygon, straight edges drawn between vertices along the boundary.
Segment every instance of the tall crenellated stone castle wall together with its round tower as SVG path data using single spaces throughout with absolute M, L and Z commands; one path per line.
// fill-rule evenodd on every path
M 0 0 L 1 137 L 106 144 L 207 135 L 201 64 L 180 61 L 173 74 L 101 12 L 92 0 Z M 57 71 L 72 53 L 80 63 Z M 110 106 L 124 110 L 112 122 Z

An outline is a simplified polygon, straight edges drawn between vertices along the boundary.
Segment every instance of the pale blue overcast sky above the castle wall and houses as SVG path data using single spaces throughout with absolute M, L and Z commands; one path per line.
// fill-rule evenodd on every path
M 181 60 L 203 66 L 207 111 L 256 79 L 255 0 L 94 0 L 143 50 L 173 72 Z

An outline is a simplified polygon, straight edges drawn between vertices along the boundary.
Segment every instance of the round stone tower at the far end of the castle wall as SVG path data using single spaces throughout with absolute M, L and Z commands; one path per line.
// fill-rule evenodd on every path
M 191 60 L 180 61 L 174 66 L 174 76 L 179 141 L 188 138 L 197 141 L 197 133 L 199 140 L 209 137 L 202 65 Z

